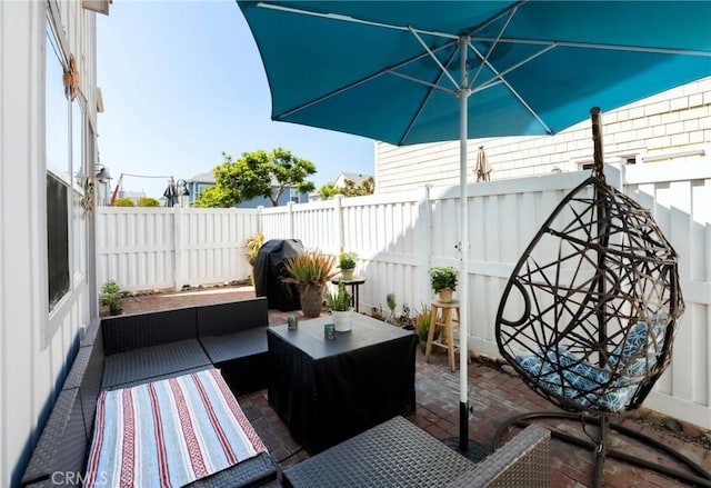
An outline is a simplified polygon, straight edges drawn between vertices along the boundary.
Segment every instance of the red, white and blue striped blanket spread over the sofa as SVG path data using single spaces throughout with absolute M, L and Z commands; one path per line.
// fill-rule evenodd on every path
M 180 487 L 266 450 L 217 369 L 102 391 L 84 486 Z

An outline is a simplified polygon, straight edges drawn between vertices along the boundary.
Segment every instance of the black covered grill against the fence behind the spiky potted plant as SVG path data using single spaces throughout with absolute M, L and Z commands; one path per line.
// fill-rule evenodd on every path
M 301 308 L 297 286 L 281 279 L 289 277 L 286 260 L 303 251 L 299 239 L 272 239 L 259 249 L 253 269 L 254 291 L 258 297 L 267 297 L 269 308 L 281 311 Z

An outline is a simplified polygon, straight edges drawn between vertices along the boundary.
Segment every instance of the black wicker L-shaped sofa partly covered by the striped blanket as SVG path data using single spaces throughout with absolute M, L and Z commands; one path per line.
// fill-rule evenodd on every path
M 267 387 L 266 298 L 97 319 L 88 327 L 22 477 L 81 486 L 101 390 L 218 368 L 234 395 Z M 57 476 L 60 474 L 60 476 Z M 194 481 L 253 487 L 277 479 L 268 452 Z

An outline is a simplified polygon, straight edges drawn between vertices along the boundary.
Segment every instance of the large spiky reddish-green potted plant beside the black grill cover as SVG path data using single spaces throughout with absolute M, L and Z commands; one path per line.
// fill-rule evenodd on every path
M 323 303 L 326 283 L 333 278 L 336 257 L 317 250 L 306 251 L 284 261 L 289 277 L 284 282 L 299 287 L 301 311 L 310 318 L 319 317 Z

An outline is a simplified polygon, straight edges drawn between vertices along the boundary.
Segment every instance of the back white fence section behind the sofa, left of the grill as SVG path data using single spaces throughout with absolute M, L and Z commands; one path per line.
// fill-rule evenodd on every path
M 147 290 L 244 280 L 258 231 L 257 210 L 99 207 L 97 282 Z

